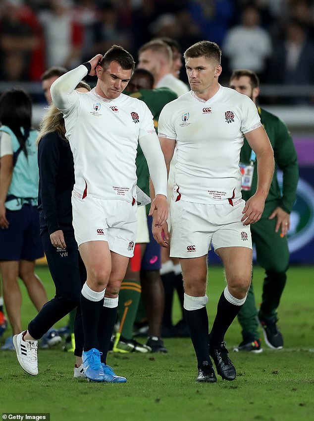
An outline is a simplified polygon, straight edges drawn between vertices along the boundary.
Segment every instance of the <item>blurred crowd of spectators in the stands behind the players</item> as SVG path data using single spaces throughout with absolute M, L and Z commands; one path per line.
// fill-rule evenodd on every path
M 177 40 L 182 52 L 218 43 L 222 84 L 234 68 L 266 84 L 314 84 L 312 0 L 0 0 L 0 80 L 38 81 L 48 67 L 74 68 L 112 44 L 137 59 L 156 37 Z

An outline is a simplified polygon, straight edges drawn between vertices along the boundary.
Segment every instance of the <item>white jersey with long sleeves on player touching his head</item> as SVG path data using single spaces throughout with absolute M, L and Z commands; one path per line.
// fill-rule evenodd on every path
M 51 90 L 54 104 L 64 115 L 66 138 L 73 153 L 73 194 L 134 202 L 139 138 L 152 144 L 155 141 L 152 148 L 157 141 L 160 156 L 155 154 L 154 160 L 164 163 L 153 115 L 143 101 L 124 94 L 108 100 L 95 89 L 86 93 L 73 90 L 86 74 L 86 67 L 80 65 L 59 77 Z M 160 180 L 156 193 L 166 195 L 165 166 L 164 171 L 164 187 Z

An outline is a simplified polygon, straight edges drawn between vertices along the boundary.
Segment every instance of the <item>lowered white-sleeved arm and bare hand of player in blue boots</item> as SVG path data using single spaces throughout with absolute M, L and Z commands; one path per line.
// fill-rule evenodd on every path
M 150 215 L 154 214 L 155 223 L 162 226 L 168 218 L 167 170 L 164 157 L 156 133 L 140 137 L 139 143 L 146 158 L 156 192 L 156 195 L 152 198 Z

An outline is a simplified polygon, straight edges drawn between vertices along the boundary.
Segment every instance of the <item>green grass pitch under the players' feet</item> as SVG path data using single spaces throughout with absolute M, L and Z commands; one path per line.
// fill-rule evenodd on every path
M 46 267 L 37 273 L 49 297 L 53 284 Z M 254 269 L 257 300 L 263 272 Z M 212 322 L 224 288 L 221 267 L 209 268 L 207 305 Z M 35 310 L 23 290 L 23 328 Z M 0 413 L 50 413 L 52 421 L 310 421 L 314 419 L 314 268 L 291 267 L 279 309 L 283 350 L 233 353 L 240 327 L 226 335 L 237 378 L 215 384 L 195 382 L 196 359 L 189 339 L 167 339 L 166 355 L 110 354 L 108 363 L 128 378 L 125 384 L 73 378 L 74 357 L 61 347 L 39 350 L 39 375 L 20 368 L 14 352 L 0 351 Z M 178 320 L 176 303 L 174 321 Z M 66 319 L 60 321 L 60 327 Z M 10 331 L 1 338 L 1 344 Z M 2 415 L 2 414 L 0 414 Z M 8 418 L 9 419 L 9 418 Z

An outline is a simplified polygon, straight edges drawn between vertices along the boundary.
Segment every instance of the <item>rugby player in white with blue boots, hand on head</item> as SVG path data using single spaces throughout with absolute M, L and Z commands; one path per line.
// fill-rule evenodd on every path
M 82 289 L 83 367 L 94 381 L 125 382 L 106 364 L 118 293 L 137 231 L 136 150 L 140 143 L 157 190 L 151 214 L 161 225 L 168 214 L 164 157 L 147 105 L 122 94 L 134 70 L 130 53 L 112 46 L 103 57 L 59 77 L 52 101 L 63 112 L 74 158 L 73 227 L 87 269 Z M 74 90 L 90 74 L 87 94 Z

